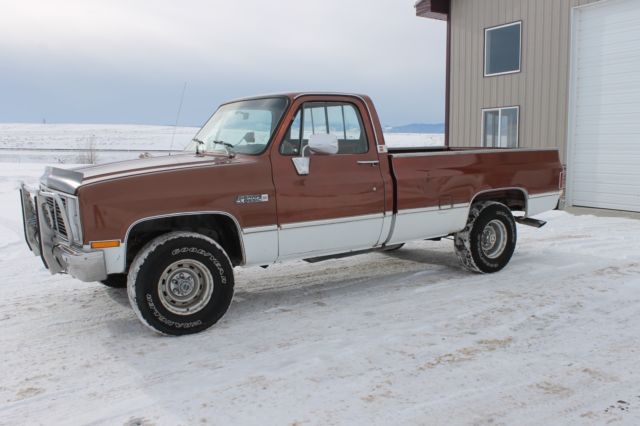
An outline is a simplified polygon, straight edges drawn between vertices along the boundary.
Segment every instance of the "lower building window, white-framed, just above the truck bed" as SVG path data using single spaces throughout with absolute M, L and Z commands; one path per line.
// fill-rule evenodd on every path
M 517 148 L 519 107 L 482 110 L 482 146 Z

